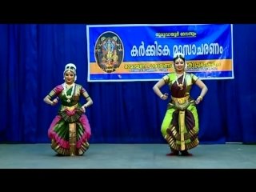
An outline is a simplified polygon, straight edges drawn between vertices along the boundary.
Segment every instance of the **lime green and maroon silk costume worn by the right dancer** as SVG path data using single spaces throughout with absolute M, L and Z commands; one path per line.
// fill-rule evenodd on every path
M 170 87 L 171 100 L 162 122 L 162 135 L 172 150 L 190 150 L 198 146 L 198 112 L 194 99 L 190 97 L 190 89 L 198 80 L 194 74 L 184 74 L 182 89 L 177 85 L 176 74 L 163 77 Z M 181 84 L 183 75 L 178 78 Z

